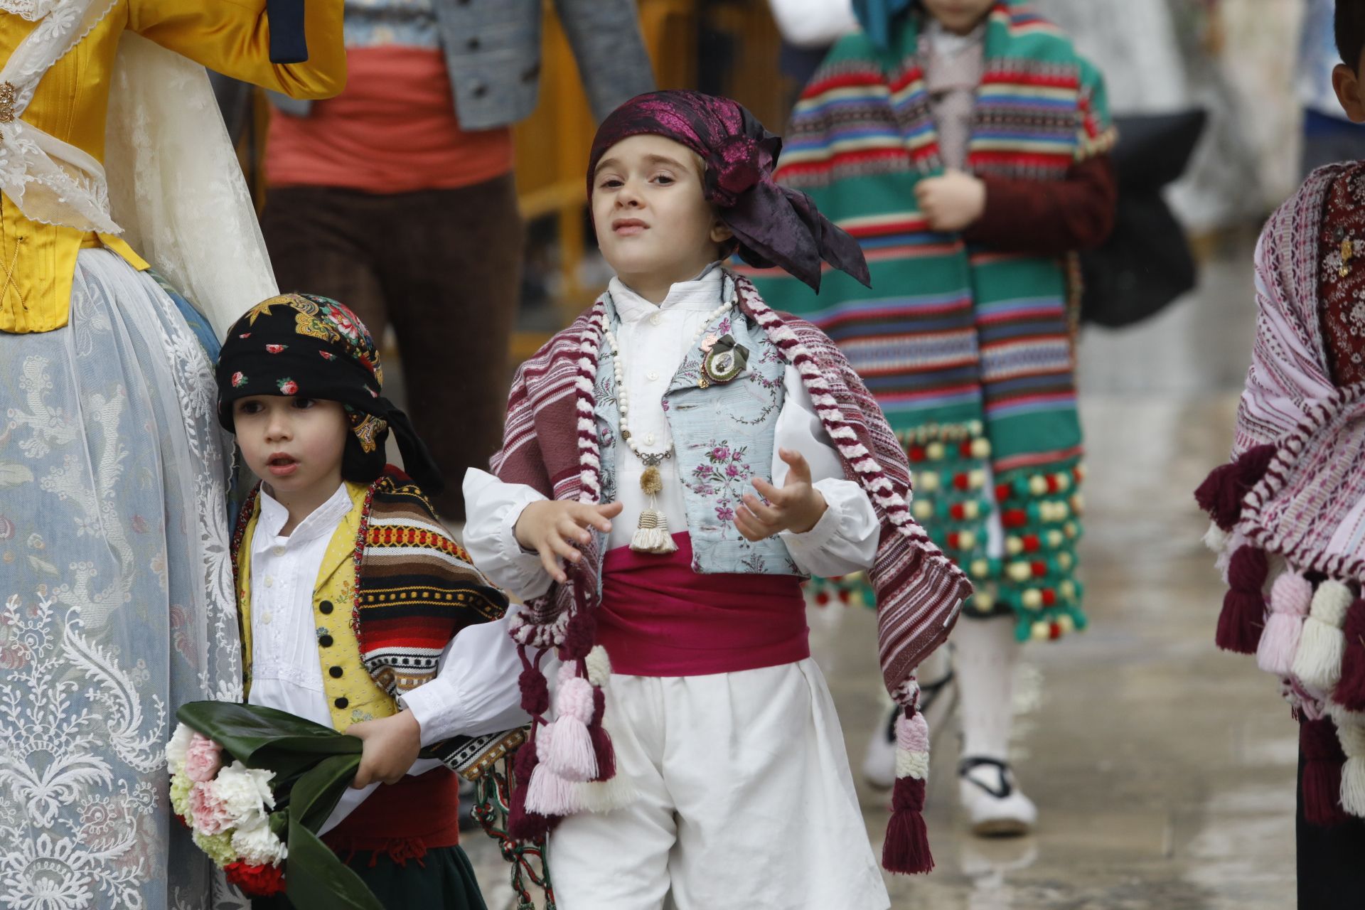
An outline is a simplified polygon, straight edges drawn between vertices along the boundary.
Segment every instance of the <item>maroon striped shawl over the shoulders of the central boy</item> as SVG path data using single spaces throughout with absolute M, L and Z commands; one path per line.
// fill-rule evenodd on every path
M 748 278 L 734 280 L 740 310 L 800 370 L 845 476 L 863 484 L 882 520 L 870 572 L 882 677 L 898 704 L 915 707 L 915 667 L 947 639 L 971 583 L 910 517 L 905 449 L 839 349 L 811 323 L 768 308 Z M 602 467 L 592 389 L 605 315 L 598 300 L 517 370 L 502 450 L 491 465 L 504 482 L 524 483 L 556 499 L 598 502 Z M 516 640 L 539 648 L 562 644 L 576 602 L 594 607 L 599 600 L 599 568 L 594 540 L 584 559 L 571 566 L 571 585 L 556 585 L 513 618 Z

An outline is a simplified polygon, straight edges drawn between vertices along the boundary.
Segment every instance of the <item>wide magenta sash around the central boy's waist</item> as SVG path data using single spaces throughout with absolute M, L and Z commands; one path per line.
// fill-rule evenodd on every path
M 800 577 L 702 574 L 688 533 L 673 542 L 667 555 L 617 547 L 603 559 L 597 640 L 613 673 L 700 677 L 811 656 Z

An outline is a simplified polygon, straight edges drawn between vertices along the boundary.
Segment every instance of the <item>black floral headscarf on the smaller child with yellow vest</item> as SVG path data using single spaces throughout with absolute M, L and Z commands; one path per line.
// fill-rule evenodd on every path
M 233 428 L 232 402 L 248 396 L 302 396 L 340 401 L 364 452 L 392 430 L 403 469 L 431 495 L 445 488 L 441 471 L 412 422 L 379 394 L 384 366 L 374 338 L 347 307 L 310 293 L 262 300 L 222 341 L 216 370 L 218 423 Z

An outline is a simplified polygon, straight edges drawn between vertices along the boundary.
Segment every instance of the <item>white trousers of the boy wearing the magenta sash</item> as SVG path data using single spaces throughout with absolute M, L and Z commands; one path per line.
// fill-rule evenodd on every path
M 561 910 L 890 906 L 814 660 L 613 675 L 605 723 L 639 798 L 550 835 Z

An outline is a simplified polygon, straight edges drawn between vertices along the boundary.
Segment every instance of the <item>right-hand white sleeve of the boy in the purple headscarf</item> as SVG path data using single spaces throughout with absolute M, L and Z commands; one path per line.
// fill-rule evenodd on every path
M 781 487 L 788 472 L 777 449 L 794 449 L 811 465 L 811 479 L 827 506 L 805 533 L 784 531 L 782 543 L 797 568 L 814 576 L 829 578 L 868 569 L 876 557 L 882 529 L 872 501 L 861 484 L 844 479 L 844 463 L 796 367 L 786 368 L 782 385 L 786 400 L 777 417 L 773 484 Z

